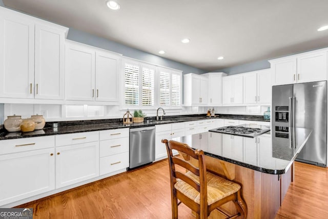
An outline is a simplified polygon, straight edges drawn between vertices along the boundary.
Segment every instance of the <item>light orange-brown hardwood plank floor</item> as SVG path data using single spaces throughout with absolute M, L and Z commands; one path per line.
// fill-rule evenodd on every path
M 17 206 L 33 208 L 33 218 L 171 218 L 168 161 L 121 173 Z M 181 204 L 179 218 L 195 218 Z M 327 218 L 328 168 L 296 162 L 276 218 Z

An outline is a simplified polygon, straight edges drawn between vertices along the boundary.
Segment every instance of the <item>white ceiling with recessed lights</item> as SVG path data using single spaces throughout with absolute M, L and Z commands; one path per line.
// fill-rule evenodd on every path
M 328 47 L 328 30 L 317 31 L 328 25 L 327 0 L 117 0 L 118 11 L 105 0 L 3 2 L 207 71 Z

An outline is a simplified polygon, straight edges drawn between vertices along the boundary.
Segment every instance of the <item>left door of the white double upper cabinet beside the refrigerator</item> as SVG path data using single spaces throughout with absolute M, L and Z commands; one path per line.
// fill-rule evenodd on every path
M 244 104 L 257 103 L 257 73 L 244 74 L 243 95 Z

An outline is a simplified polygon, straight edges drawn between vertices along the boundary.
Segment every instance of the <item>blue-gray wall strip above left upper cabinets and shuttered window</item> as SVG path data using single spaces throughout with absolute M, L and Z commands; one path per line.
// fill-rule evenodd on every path
M 74 28 L 70 28 L 68 31 L 68 39 L 71 39 L 72 41 L 76 41 L 79 43 L 84 43 L 87 45 L 91 45 L 94 47 L 110 50 L 113 52 L 120 53 L 124 56 L 130 57 L 130 58 L 135 58 L 139 59 L 141 61 L 165 66 L 165 67 L 170 67 L 178 70 L 182 70 L 183 74 L 188 74 L 188 73 L 196 73 L 196 74 L 202 74 L 205 73 L 206 71 L 194 68 L 185 64 L 181 64 L 175 61 L 172 61 L 167 58 L 160 57 L 158 55 L 153 55 L 138 49 L 134 49 L 113 41 L 110 41 L 109 39 L 99 37 L 92 35 L 87 32 L 83 32 L 80 30 L 76 30 Z

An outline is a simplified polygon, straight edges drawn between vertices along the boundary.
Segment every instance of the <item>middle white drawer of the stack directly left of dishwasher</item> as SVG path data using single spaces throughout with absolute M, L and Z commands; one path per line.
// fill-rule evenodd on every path
M 129 152 L 129 138 L 100 141 L 100 157 Z

